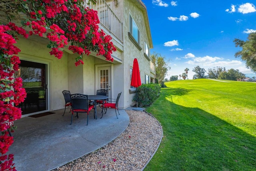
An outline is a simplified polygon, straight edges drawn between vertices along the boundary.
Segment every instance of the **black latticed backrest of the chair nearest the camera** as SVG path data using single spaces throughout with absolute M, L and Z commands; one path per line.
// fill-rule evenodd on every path
M 88 95 L 84 94 L 71 94 L 72 110 L 83 109 L 88 110 Z

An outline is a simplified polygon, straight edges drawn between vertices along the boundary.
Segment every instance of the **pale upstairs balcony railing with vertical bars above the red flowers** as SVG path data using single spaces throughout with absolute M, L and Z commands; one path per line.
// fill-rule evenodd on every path
M 104 0 L 98 0 L 96 4 L 91 4 L 90 8 L 98 11 L 100 24 L 112 35 L 123 42 L 123 23 L 118 19 L 110 6 Z

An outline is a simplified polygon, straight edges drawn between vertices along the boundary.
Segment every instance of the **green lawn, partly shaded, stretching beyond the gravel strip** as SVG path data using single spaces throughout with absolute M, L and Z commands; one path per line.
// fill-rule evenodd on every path
M 146 109 L 164 137 L 144 171 L 255 171 L 256 84 L 166 83 Z

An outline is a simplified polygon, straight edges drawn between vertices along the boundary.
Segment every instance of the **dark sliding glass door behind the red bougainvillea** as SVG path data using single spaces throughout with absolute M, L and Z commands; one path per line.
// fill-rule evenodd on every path
M 27 97 L 20 104 L 22 115 L 48 110 L 47 64 L 20 60 L 16 77 L 21 77 Z

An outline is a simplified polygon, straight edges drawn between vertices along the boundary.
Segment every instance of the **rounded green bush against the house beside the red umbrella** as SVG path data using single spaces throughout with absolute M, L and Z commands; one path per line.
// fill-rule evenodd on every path
M 158 97 L 161 86 L 159 84 L 142 84 L 137 88 L 138 93 L 138 106 L 149 106 Z M 136 95 L 134 96 L 136 101 Z

